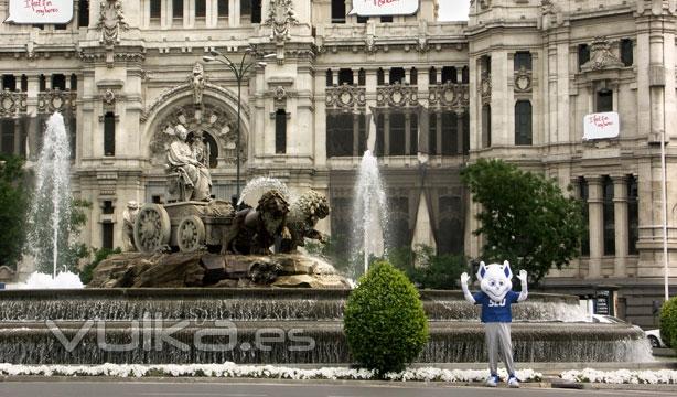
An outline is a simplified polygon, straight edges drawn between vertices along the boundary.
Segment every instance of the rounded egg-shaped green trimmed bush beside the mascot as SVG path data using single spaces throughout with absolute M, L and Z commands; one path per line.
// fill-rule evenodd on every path
M 351 293 L 343 326 L 353 358 L 379 376 L 399 372 L 428 342 L 419 292 L 400 270 L 377 261 Z

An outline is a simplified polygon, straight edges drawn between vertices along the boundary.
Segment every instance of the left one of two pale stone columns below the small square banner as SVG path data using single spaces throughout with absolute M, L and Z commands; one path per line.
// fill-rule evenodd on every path
M 588 278 L 602 276 L 602 256 L 604 255 L 604 186 L 602 176 L 585 176 L 588 181 L 588 208 L 590 229 L 590 260 Z

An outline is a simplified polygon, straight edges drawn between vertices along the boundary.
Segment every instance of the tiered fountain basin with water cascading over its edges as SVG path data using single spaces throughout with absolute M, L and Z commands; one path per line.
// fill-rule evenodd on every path
M 351 363 L 341 320 L 348 294 L 275 288 L 0 291 L 0 355 L 14 364 Z M 477 308 L 458 291 L 421 291 L 421 299 L 430 341 L 417 362 L 486 361 Z M 533 293 L 514 310 L 518 362 L 651 361 L 635 326 L 556 321 L 580 320 L 576 297 Z

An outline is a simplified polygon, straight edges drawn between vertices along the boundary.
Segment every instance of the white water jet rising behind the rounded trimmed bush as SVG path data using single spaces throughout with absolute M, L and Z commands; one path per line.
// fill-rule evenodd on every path
M 369 258 L 383 257 L 387 248 L 387 213 L 386 193 L 378 171 L 378 161 L 372 151 L 367 150 L 362 157 L 355 181 L 351 240 L 351 254 L 353 258 L 362 254 L 365 273 L 369 267 Z M 357 272 L 355 271 L 353 276 L 357 276 Z

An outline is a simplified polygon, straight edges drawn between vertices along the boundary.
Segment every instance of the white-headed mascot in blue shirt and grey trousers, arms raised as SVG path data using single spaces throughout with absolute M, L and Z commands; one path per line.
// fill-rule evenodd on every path
M 527 272 L 519 271 L 517 278 L 522 282 L 522 292 L 513 291 L 513 271 L 511 264 L 504 261 L 503 265 L 480 264 L 477 279 L 480 280 L 481 292 L 474 296 L 468 290 L 468 273 L 461 275 L 461 288 L 465 300 L 473 304 L 482 304 L 482 322 L 486 334 L 486 347 L 488 350 L 488 368 L 491 375 L 486 385 L 496 387 L 501 382 L 498 377 L 498 350 L 503 363 L 508 372 L 507 384 L 509 387 L 519 387 L 519 382 L 515 376 L 515 364 L 513 363 L 513 343 L 511 341 L 511 322 L 513 313 L 512 303 L 522 302 L 527 299 Z

